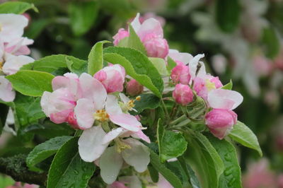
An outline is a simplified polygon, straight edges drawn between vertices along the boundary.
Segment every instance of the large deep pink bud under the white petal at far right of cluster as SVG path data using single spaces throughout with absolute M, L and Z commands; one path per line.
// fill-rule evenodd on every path
M 213 109 L 205 116 L 207 127 L 214 136 L 223 139 L 237 122 L 237 114 L 231 110 Z

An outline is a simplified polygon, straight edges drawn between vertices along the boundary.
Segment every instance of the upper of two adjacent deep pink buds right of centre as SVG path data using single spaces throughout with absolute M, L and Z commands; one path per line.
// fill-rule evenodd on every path
M 185 66 L 180 61 L 176 61 L 177 66 L 172 69 L 171 72 L 171 79 L 173 83 L 182 83 L 182 84 L 189 84 L 190 83 L 190 68 Z

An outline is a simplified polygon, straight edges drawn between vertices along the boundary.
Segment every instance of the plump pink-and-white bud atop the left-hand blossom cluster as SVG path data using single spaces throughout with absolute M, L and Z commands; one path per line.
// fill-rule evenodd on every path
M 118 64 L 105 66 L 93 77 L 103 84 L 108 93 L 121 92 L 124 88 L 125 69 Z

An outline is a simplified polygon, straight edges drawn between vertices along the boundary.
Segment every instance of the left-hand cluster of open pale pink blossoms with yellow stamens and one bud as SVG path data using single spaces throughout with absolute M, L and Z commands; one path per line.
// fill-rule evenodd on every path
M 67 73 L 52 80 L 53 92 L 43 93 L 42 110 L 57 124 L 68 122 L 83 130 L 79 154 L 86 162 L 96 161 L 103 180 L 111 184 L 125 161 L 137 172 L 149 164 L 149 151 L 140 141 L 149 141 L 134 110 L 134 100 L 123 93 L 125 69 L 105 66 L 94 76 Z M 111 144 L 111 143 L 114 143 Z M 110 147 L 108 147 L 110 145 Z

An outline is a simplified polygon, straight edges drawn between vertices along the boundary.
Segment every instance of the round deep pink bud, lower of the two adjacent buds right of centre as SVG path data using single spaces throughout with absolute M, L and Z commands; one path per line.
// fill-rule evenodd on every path
M 194 94 L 189 86 L 178 83 L 173 91 L 173 98 L 180 105 L 187 105 L 194 99 Z

